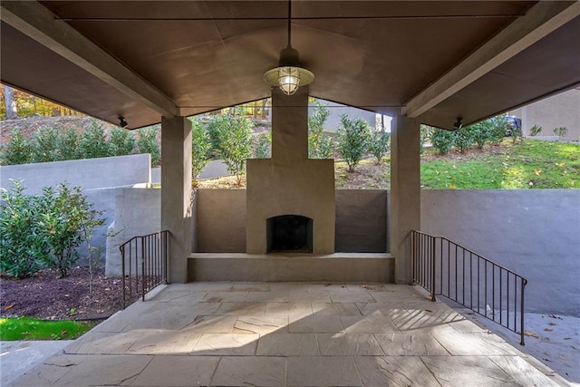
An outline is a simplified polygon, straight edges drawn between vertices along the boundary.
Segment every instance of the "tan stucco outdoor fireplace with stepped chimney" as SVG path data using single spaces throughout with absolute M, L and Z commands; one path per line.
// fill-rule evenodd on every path
M 247 160 L 248 254 L 334 252 L 334 160 L 308 159 L 308 87 L 272 90 L 272 159 Z

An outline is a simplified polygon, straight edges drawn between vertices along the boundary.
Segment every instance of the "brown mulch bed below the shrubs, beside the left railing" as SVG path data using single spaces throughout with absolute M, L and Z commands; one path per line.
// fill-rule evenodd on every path
M 87 267 L 57 276 L 43 270 L 21 280 L 0 277 L 0 315 L 83 320 L 106 318 L 122 307 L 121 278 L 104 276 L 104 269 L 94 273 L 92 290 Z

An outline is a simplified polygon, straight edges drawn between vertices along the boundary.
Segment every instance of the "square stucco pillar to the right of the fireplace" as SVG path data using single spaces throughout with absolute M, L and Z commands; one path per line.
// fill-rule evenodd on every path
M 420 229 L 419 121 L 397 116 L 391 121 L 390 247 L 395 282 L 411 284 L 410 232 Z

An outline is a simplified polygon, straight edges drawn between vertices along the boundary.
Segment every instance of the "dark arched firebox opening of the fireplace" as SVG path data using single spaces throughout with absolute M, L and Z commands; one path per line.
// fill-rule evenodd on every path
M 267 253 L 312 253 L 313 219 L 281 215 L 266 220 Z

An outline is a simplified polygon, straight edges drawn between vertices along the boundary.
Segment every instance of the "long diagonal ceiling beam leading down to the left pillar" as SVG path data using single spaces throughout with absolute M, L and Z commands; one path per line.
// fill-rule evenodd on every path
M 0 18 L 161 116 L 178 115 L 175 102 L 35 1 L 2 1 Z

